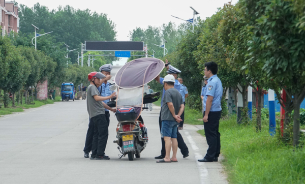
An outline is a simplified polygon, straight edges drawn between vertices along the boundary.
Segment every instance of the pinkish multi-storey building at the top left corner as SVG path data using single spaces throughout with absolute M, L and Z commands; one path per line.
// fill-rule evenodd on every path
M 19 32 L 19 7 L 14 5 L 14 2 L 6 2 L 0 0 L 0 20 L 2 36 L 4 34 L 10 35 L 11 32 Z

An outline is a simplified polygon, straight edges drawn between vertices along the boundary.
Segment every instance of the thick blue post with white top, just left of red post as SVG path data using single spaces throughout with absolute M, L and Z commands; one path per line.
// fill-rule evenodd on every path
M 276 134 L 276 106 L 275 106 L 275 91 L 268 90 L 269 101 L 269 134 L 271 136 Z

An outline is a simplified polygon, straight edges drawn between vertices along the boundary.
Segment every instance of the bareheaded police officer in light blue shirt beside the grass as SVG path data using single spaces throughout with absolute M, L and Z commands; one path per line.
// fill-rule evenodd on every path
M 203 159 L 199 162 L 217 162 L 220 155 L 219 120 L 221 117 L 221 99 L 223 87 L 217 77 L 218 65 L 215 62 L 204 64 L 204 75 L 208 77 L 208 83 L 204 90 L 203 125 L 208 149 Z

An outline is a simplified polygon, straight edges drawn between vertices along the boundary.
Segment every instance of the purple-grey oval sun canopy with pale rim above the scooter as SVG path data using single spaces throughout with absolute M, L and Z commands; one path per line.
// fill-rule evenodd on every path
M 120 88 L 136 88 L 154 80 L 164 69 L 164 62 L 157 58 L 139 58 L 121 67 L 114 82 Z

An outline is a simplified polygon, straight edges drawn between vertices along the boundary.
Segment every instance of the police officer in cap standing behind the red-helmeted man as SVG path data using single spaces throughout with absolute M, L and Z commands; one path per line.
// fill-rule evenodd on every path
M 100 91 L 100 94 L 101 94 L 102 97 L 108 97 L 112 93 L 115 92 L 115 91 L 112 91 L 112 90 L 109 89 L 110 83 L 108 82 L 108 80 L 111 79 L 111 77 L 112 77 L 110 75 L 111 74 L 111 70 L 112 70 L 112 66 L 110 64 L 106 64 L 106 65 L 103 65 L 102 67 L 100 67 L 101 73 L 106 76 L 106 78 L 104 80 L 105 82 L 103 82 L 101 84 L 101 86 L 98 87 L 98 90 Z M 110 100 L 103 101 L 104 102 L 103 105 L 105 107 L 105 116 L 106 116 L 106 120 L 107 120 L 108 126 L 110 124 L 110 113 L 109 113 L 109 110 L 106 109 L 107 105 L 105 105 L 105 104 L 107 104 L 109 101 Z M 84 147 L 84 153 L 85 153 L 84 157 L 85 158 L 89 158 L 89 152 L 92 150 L 93 135 L 94 135 L 94 124 L 89 119 L 89 127 L 88 127 L 88 131 L 87 131 L 86 142 L 85 142 L 85 147 Z

